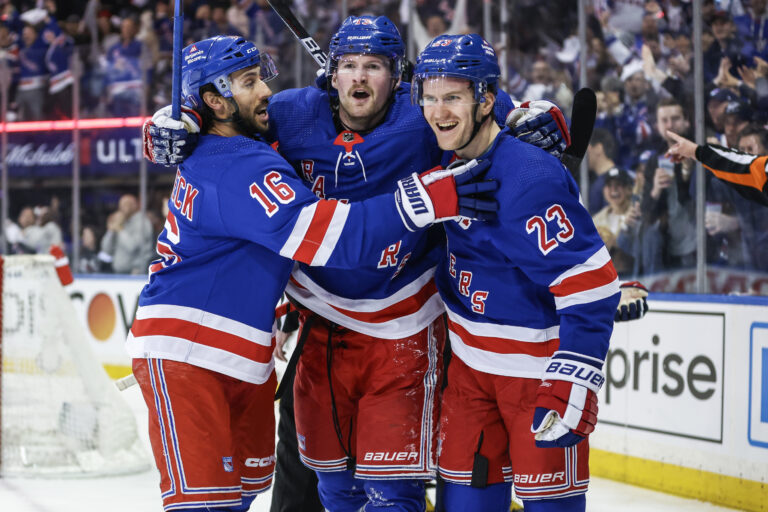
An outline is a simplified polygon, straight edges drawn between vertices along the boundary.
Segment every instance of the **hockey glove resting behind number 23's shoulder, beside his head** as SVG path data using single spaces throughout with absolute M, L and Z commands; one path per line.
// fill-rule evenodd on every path
M 560 158 L 571 145 L 571 135 L 563 113 L 552 102 L 526 101 L 507 116 L 512 135 Z

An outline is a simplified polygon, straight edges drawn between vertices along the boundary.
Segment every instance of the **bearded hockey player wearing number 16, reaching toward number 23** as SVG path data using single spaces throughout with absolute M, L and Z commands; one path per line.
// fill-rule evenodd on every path
M 257 135 L 269 123 L 269 55 L 220 36 L 182 60 L 187 115 L 201 116 L 204 135 L 176 173 L 126 348 L 164 508 L 245 511 L 272 479 L 274 307 L 293 260 L 359 267 L 409 230 L 461 211 L 492 215 L 476 194 L 494 187 L 470 181 L 478 165 L 412 173 L 362 203 L 320 199 Z

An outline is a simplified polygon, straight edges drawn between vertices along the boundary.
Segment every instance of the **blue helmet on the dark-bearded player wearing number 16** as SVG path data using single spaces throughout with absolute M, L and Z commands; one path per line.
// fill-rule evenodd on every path
M 193 43 L 181 52 L 181 95 L 184 102 L 200 110 L 200 88 L 213 84 L 219 94 L 232 97 L 229 75 L 240 69 L 261 66 L 261 79 L 277 76 L 277 68 L 267 53 L 242 37 L 217 36 Z

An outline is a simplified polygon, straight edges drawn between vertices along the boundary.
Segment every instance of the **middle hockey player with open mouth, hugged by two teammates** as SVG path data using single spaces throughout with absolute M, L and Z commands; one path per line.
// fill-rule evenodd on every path
M 270 100 L 268 137 L 319 197 L 371 197 L 403 173 L 440 161 L 409 85 L 400 82 L 403 55 L 391 21 L 351 17 L 331 43 L 328 89 L 288 90 Z M 503 122 L 511 102 L 497 106 Z M 542 144 L 565 145 L 553 140 L 539 134 Z M 306 340 L 296 381 L 299 450 L 330 510 L 424 506 L 423 480 L 436 469 L 445 336 L 432 279 L 438 244 L 441 234 L 436 244 L 414 233 L 361 265 L 354 281 L 347 272 L 302 265 L 289 282 Z M 281 424 L 290 416 L 285 403 Z

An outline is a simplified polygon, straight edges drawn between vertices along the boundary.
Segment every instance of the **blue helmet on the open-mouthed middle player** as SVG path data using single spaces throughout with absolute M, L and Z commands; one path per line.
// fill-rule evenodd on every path
M 400 76 L 405 58 L 405 44 L 392 21 L 386 16 L 350 16 L 331 38 L 326 72 L 330 75 L 339 58 L 348 53 L 383 55 L 392 60 L 392 72 Z

